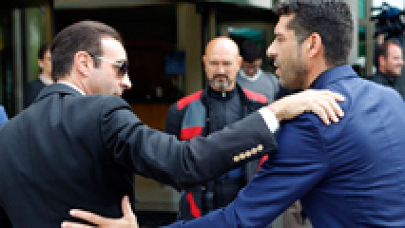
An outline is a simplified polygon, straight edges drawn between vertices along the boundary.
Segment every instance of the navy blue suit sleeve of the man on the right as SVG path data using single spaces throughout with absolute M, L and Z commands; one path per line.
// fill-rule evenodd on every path
M 229 206 L 169 227 L 266 227 L 303 197 L 325 176 L 327 152 L 322 151 L 318 130 L 310 121 L 281 126 L 279 133 L 279 151 L 269 155 Z

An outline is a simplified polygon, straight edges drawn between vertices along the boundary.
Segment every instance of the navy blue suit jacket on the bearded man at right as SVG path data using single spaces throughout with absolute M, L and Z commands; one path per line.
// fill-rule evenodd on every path
M 314 227 L 405 226 L 405 104 L 348 65 L 311 85 L 346 97 L 326 126 L 305 113 L 281 123 L 278 151 L 228 207 L 173 226 L 265 227 L 300 199 Z

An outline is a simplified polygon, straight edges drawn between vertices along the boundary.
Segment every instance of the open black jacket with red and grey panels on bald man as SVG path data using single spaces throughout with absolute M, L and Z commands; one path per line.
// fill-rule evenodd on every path
M 196 136 L 207 136 L 212 133 L 212 130 L 206 129 L 209 89 L 207 86 L 206 89 L 198 90 L 173 104 L 168 112 L 165 131 L 176 135 L 180 140 L 191 140 Z M 262 94 L 241 88 L 239 85 L 236 85 L 235 89 L 240 96 L 242 117 L 267 104 L 267 98 Z M 253 170 L 252 167 L 245 170 L 250 172 L 249 174 L 245 173 L 247 183 L 248 179 L 253 175 L 252 172 L 256 172 L 257 163 L 254 164 Z M 182 196 L 182 201 L 186 201 L 186 203 L 181 202 L 181 219 L 189 220 L 197 218 L 201 214 L 208 212 L 205 210 L 201 211 L 201 204 L 203 204 L 201 201 L 204 198 L 201 194 L 200 188 L 195 188 L 187 191 Z

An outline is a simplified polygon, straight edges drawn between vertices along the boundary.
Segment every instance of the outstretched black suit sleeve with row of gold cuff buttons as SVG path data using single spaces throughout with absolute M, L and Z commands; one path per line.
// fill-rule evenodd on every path
M 100 131 L 116 163 L 178 189 L 205 183 L 276 149 L 259 113 L 186 142 L 144 125 L 119 98 L 109 97 L 103 104 Z

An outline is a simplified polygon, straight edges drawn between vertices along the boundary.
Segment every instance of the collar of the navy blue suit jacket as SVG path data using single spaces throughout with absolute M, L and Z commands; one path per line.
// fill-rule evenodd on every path
M 357 73 L 351 68 L 350 65 L 339 65 L 332 67 L 326 71 L 323 71 L 309 86 L 313 89 L 321 89 L 327 87 L 335 81 L 344 79 L 358 77 Z

